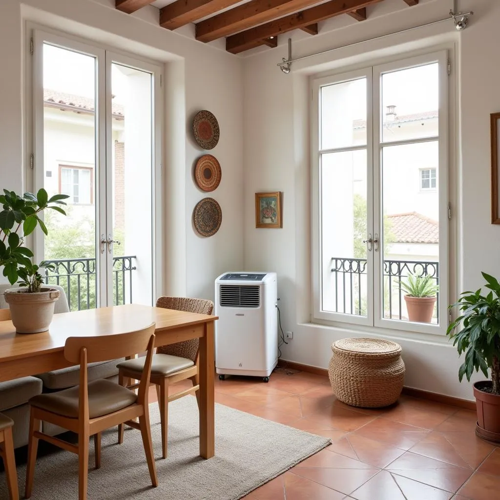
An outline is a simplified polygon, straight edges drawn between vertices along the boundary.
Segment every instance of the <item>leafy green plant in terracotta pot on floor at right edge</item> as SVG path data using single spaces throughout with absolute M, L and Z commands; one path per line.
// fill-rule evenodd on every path
M 489 288 L 487 295 L 477 291 L 464 291 L 449 307 L 458 307 L 458 316 L 447 329 L 458 354 L 465 352 L 465 359 L 458 370 L 458 379 L 463 375 L 470 381 L 473 371 L 488 376 L 473 384 L 477 409 L 476 434 L 500 442 L 500 284 L 485 272 L 481 273 Z

